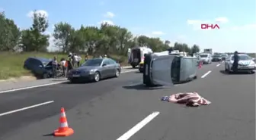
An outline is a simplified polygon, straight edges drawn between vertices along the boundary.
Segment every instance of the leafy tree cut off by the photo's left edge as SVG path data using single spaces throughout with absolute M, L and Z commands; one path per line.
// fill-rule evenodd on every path
M 0 51 L 15 51 L 21 32 L 14 20 L 5 18 L 5 13 L 0 12 Z

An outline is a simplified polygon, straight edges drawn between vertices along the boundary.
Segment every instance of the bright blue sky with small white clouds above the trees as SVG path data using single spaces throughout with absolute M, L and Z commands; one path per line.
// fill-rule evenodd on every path
M 133 34 L 157 36 L 172 43 L 197 44 L 213 51 L 256 52 L 255 0 L 2 0 L 0 9 L 21 29 L 31 25 L 28 13 L 46 12 L 48 33 L 59 21 L 75 28 L 101 21 L 128 28 Z M 108 12 L 108 13 L 107 13 Z M 201 30 L 201 23 L 217 23 L 219 30 Z

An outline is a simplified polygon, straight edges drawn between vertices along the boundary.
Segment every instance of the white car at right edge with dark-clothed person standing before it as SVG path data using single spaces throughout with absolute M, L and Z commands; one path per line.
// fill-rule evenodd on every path
M 254 58 L 248 54 L 238 54 L 238 71 L 254 73 L 255 62 Z M 232 72 L 232 64 L 234 63 L 234 55 L 230 55 L 225 61 L 225 71 Z

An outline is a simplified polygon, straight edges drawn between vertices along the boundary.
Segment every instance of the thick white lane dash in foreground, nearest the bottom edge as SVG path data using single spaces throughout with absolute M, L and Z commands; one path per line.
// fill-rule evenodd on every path
M 153 120 L 155 117 L 157 117 L 158 114 L 160 114 L 160 112 L 153 112 L 148 117 L 146 117 L 144 120 L 142 120 L 141 122 L 136 124 L 136 126 L 133 126 L 132 129 L 130 129 L 129 131 L 127 131 L 126 133 L 121 135 L 119 138 L 117 138 L 117 140 L 127 140 L 127 139 L 129 139 L 136 132 L 138 132 L 140 129 L 142 129 L 143 126 L 146 126 L 147 123 L 149 123 L 151 120 Z

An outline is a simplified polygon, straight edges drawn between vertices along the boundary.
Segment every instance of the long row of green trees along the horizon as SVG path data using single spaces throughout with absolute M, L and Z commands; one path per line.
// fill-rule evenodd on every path
M 49 27 L 47 17 L 34 11 L 30 28 L 21 30 L 11 20 L 0 13 L 0 51 L 42 51 L 46 52 L 50 45 L 50 35 L 46 34 Z M 101 26 L 81 26 L 75 30 L 66 22 L 54 25 L 54 47 L 62 53 L 69 51 L 93 54 L 126 55 L 128 48 L 148 46 L 152 51 L 166 51 L 174 49 L 195 53 L 200 51 L 198 45 L 188 46 L 175 42 L 170 46 L 169 40 L 148 36 L 133 36 L 125 27 L 111 26 L 107 23 Z

